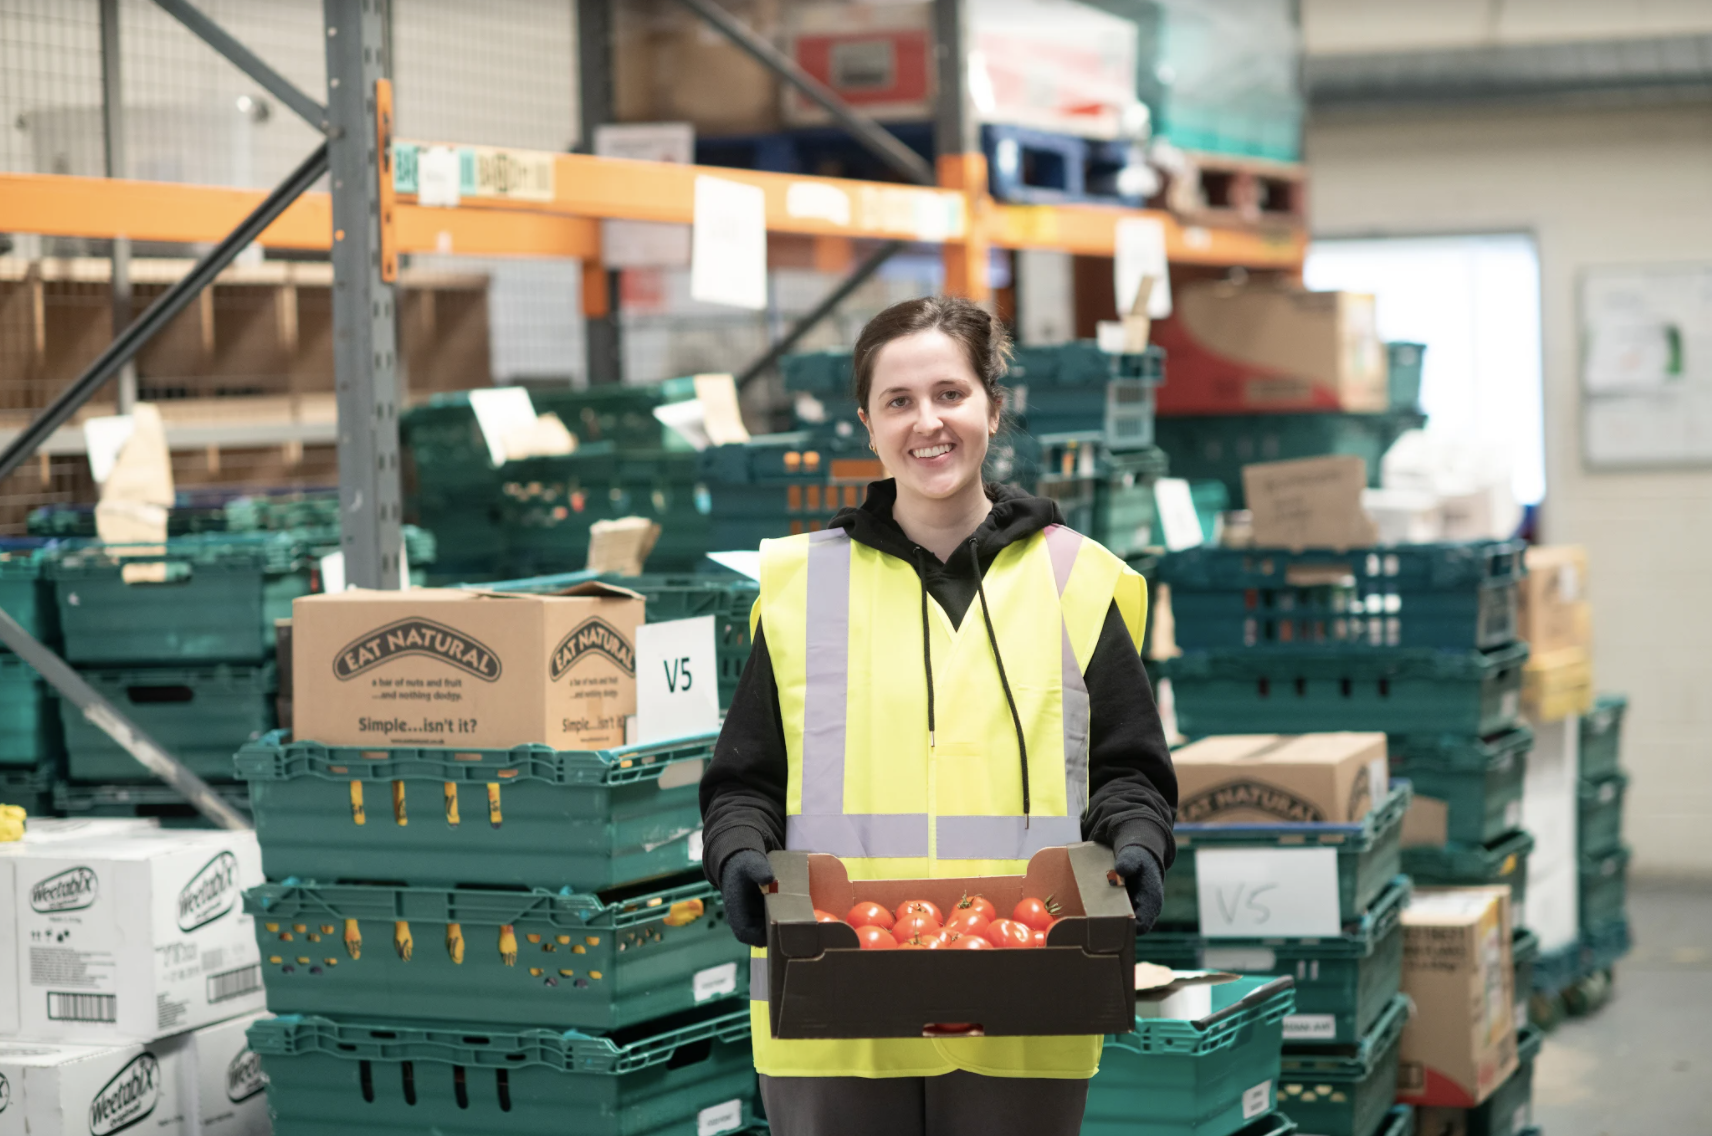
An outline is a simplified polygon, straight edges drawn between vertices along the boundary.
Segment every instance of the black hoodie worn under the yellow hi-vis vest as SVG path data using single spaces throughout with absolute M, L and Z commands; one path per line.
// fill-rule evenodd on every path
M 979 578 L 998 553 L 1046 525 L 1063 524 L 1058 505 L 1010 486 L 988 486 L 993 510 L 948 561 L 918 546 L 892 520 L 894 481 L 868 486 L 861 508 L 839 512 L 830 527 L 853 541 L 914 565 L 926 592 L 960 624 L 974 602 Z M 974 554 L 971 554 L 971 544 Z M 1159 725 L 1159 710 L 1135 642 L 1113 604 L 1087 666 L 1089 808 L 1082 837 L 1113 849 L 1138 843 L 1171 866 L 1176 842 L 1176 772 Z M 714 760 L 702 777 L 702 869 L 719 886 L 734 852 L 784 847 L 784 794 L 789 780 L 779 688 L 767 654 L 765 628 L 738 681 Z

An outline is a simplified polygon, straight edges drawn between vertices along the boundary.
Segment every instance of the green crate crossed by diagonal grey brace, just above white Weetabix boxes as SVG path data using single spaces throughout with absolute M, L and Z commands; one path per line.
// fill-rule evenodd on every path
M 204 780 L 233 780 L 231 754 L 274 729 L 279 674 L 260 666 L 82 671 L 96 693 Z M 152 782 L 154 773 L 67 700 L 65 773 L 77 782 Z

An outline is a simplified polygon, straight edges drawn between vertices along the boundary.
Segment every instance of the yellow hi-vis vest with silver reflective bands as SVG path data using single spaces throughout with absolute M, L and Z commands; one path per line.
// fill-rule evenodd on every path
M 1113 601 L 1140 650 L 1145 585 L 1063 525 L 1005 547 L 983 578 L 1029 746 L 1027 823 L 979 597 L 959 626 L 928 599 L 930 741 L 921 587 L 914 566 L 842 529 L 762 542 L 750 619 L 767 630 L 779 686 L 786 847 L 830 852 L 851 879 L 1020 876 L 1041 849 L 1082 838 L 1084 672 Z M 1099 1068 L 1099 1037 L 776 1040 L 764 950 L 750 968 L 755 1068 L 769 1076 L 1089 1078 Z

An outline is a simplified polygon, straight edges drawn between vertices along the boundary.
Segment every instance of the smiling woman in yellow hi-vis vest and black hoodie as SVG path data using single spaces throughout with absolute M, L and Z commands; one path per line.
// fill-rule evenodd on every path
M 755 647 L 702 778 L 704 866 L 750 946 L 770 849 L 901 879 L 1022 874 L 1097 840 L 1140 929 L 1159 915 L 1176 775 L 1138 657 L 1145 589 L 1053 501 L 983 484 L 1008 352 L 966 299 L 875 317 L 856 404 L 890 479 L 762 546 Z M 1099 1064 L 1099 1037 L 776 1040 L 752 1008 L 781 1136 L 1072 1136 Z

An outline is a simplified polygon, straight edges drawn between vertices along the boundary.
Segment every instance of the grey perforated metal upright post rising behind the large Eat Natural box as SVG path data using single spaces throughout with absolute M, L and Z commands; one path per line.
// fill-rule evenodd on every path
M 383 231 L 377 101 L 390 121 L 387 0 L 324 0 L 332 183 L 332 335 L 344 578 L 399 587 L 397 323 Z M 383 94 L 377 96 L 377 84 Z M 390 132 L 390 125 L 389 125 Z M 387 159 L 390 171 L 390 159 Z

